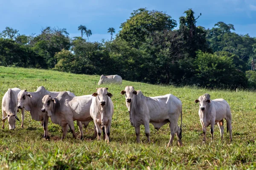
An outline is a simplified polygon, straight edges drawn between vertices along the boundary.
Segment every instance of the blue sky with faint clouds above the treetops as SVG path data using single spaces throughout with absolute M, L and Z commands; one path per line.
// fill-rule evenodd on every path
M 238 34 L 256 37 L 256 0 L 0 0 L 0 32 L 6 26 L 20 34 L 39 34 L 47 26 L 67 28 L 70 37 L 80 36 L 78 26 L 91 29 L 90 41 L 109 40 L 109 27 L 119 26 L 138 8 L 164 11 L 178 23 L 192 8 L 197 25 L 212 28 L 218 21 L 231 23 Z

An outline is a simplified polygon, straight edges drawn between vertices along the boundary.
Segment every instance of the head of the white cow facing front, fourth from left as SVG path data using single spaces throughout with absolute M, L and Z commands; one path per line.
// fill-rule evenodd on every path
M 104 108 L 108 102 L 108 97 L 112 97 L 111 93 L 108 93 L 108 88 L 97 88 L 97 92 L 93 93 L 92 96 L 96 97 L 96 100 L 99 101 L 99 105 Z

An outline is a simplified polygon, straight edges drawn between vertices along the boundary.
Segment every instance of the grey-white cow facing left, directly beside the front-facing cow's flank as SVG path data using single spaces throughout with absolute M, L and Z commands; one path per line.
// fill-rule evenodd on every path
M 45 95 L 42 99 L 42 112 L 47 112 L 48 115 L 51 115 L 52 122 L 62 127 L 61 139 L 65 139 L 68 127 L 73 133 L 73 138 L 76 138 L 74 121 L 77 120 L 81 139 L 83 139 L 82 124 L 87 127 L 93 120 L 90 116 L 92 98 L 91 95 L 70 96 L 67 92 L 61 92 L 56 98 Z

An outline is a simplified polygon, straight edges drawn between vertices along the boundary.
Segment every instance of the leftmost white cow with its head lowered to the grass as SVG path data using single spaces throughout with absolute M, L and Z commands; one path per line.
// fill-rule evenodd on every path
M 9 129 L 14 130 L 15 129 L 15 122 L 16 119 L 20 121 L 20 119 L 17 117 L 17 96 L 20 92 L 19 88 L 9 88 L 8 91 L 3 96 L 2 100 L 2 113 L 3 113 L 3 126 L 4 128 L 4 122 L 6 119 L 8 119 L 9 122 Z M 25 110 L 21 109 L 21 127 L 23 127 L 23 121 L 24 121 L 24 113 Z

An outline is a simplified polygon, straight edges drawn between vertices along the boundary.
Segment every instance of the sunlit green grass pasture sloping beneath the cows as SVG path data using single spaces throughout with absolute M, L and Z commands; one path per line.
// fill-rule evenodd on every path
M 46 81 L 45 81 L 46 79 Z M 84 140 L 72 134 L 61 141 L 61 127 L 49 119 L 50 140 L 43 139 L 41 122 L 25 113 L 23 129 L 16 122 L 16 129 L 0 130 L 1 169 L 255 169 L 256 167 L 256 93 L 253 91 L 208 90 L 196 87 L 148 85 L 123 81 L 122 85 L 98 86 L 99 76 L 68 74 L 39 69 L 0 67 L 0 100 L 8 88 L 36 91 L 43 85 L 49 91 L 71 91 L 77 96 L 93 94 L 98 87 L 108 87 L 113 94 L 114 114 L 111 125 L 111 142 L 93 139 L 93 122 L 84 129 Z M 96 82 L 96 85 L 95 85 Z M 166 147 L 170 138 L 169 125 L 155 130 L 150 125 L 151 143 L 147 143 L 141 126 L 141 143 L 136 143 L 134 127 L 129 122 L 125 96 L 120 94 L 126 85 L 141 90 L 145 96 L 173 94 L 183 103 L 182 142 L 178 147 L 175 136 L 173 147 Z M 211 99 L 224 98 L 232 112 L 233 142 L 229 142 L 226 121 L 224 138 L 220 141 L 215 125 L 215 141 L 202 144 L 203 132 L 198 116 L 199 96 L 209 93 Z M 18 113 L 21 120 L 21 113 Z M 75 122 L 76 124 L 76 122 Z M 180 119 L 178 122 L 180 125 Z

